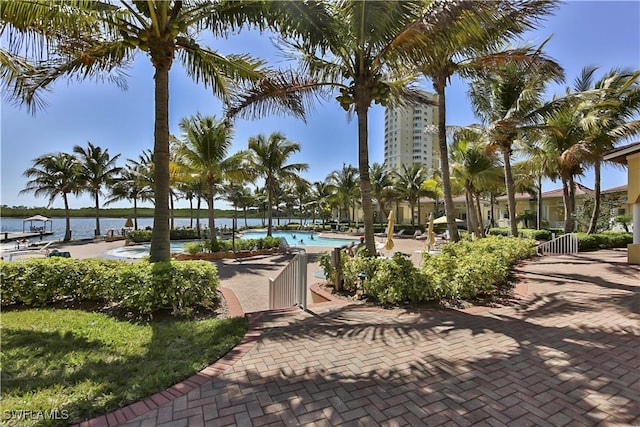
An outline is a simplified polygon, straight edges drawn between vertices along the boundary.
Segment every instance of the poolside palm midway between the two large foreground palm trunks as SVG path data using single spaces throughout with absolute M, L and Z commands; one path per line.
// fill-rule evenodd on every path
M 278 183 L 293 180 L 298 173 L 309 168 L 306 163 L 287 163 L 289 157 L 298 151 L 300 144 L 287 140 L 279 132 L 272 133 L 268 138 L 264 135 L 249 138 L 251 166 L 258 176 L 264 178 L 267 189 L 267 236 L 273 232 L 273 202 Z

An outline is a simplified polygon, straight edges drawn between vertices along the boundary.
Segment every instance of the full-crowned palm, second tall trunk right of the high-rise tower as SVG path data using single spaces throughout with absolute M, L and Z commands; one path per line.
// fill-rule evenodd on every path
M 511 153 L 518 135 L 535 123 L 543 106 L 542 95 L 551 80 L 560 81 L 562 68 L 539 51 L 519 61 L 505 62 L 478 72 L 469 96 L 474 111 L 489 126 L 492 143 L 502 152 L 511 234 L 518 235 Z

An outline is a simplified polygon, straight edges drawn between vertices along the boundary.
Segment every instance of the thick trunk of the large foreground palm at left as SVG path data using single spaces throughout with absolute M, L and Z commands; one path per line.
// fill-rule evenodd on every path
M 154 63 L 155 128 L 153 147 L 153 178 L 155 209 L 151 233 L 151 262 L 171 258 L 169 236 L 169 68 L 171 61 Z

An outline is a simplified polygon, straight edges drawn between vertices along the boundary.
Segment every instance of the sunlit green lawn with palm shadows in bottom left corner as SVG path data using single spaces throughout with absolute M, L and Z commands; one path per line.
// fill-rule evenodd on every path
M 222 357 L 248 327 L 243 318 L 134 323 L 61 309 L 4 311 L 1 319 L 9 425 L 78 423 L 151 396 Z M 11 411 L 31 416 L 8 419 L 19 413 Z M 43 418 L 38 411 L 57 416 L 30 419 Z

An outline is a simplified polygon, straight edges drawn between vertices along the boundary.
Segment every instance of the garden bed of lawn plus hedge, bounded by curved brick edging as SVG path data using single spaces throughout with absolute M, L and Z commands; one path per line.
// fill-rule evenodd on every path
M 0 280 L 9 424 L 69 425 L 147 398 L 248 328 L 229 318 L 206 262 L 33 258 L 0 262 Z

